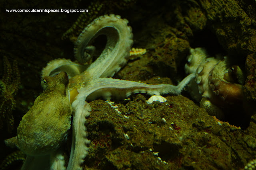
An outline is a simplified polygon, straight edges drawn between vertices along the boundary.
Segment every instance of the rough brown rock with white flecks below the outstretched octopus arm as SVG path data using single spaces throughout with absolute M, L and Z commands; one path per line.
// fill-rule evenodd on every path
M 86 127 L 91 144 L 86 168 L 237 169 L 255 155 L 254 118 L 248 129 L 236 129 L 226 123 L 219 125 L 183 96 L 166 98 L 167 102 L 148 105 L 138 94 L 130 102 L 113 104 L 121 114 L 102 100 L 90 102 L 92 112 Z

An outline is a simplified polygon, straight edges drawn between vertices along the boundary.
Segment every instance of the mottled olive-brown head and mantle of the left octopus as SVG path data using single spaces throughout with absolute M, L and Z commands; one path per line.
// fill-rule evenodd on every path
M 44 91 L 22 117 L 17 129 L 18 147 L 30 156 L 50 154 L 58 149 L 71 124 L 66 72 L 46 76 L 41 84 Z

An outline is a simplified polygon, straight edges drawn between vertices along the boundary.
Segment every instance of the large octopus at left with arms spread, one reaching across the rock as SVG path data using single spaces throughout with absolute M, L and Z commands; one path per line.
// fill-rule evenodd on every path
M 125 99 L 135 93 L 179 95 L 195 77 L 195 74 L 190 74 L 177 86 L 111 78 L 130 56 L 133 35 L 127 24 L 127 20 L 114 14 L 96 18 L 75 43 L 74 56 L 77 61 L 56 59 L 42 70 L 44 92 L 22 118 L 17 137 L 6 140 L 7 145 L 15 143 L 27 155 L 22 169 L 82 169 L 81 164 L 88 154 L 86 145 L 90 143 L 84 126 L 91 111 L 88 101 L 99 97 L 106 100 L 112 97 Z M 93 44 L 102 35 L 107 39 L 104 49 Z M 93 61 L 95 56 L 97 58 L 91 64 L 81 64 Z M 65 167 L 61 145 L 70 129 L 71 115 L 72 147 Z

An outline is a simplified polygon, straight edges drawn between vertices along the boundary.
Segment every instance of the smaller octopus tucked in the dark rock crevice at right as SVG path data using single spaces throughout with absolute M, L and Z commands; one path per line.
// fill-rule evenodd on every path
M 218 119 L 226 119 L 230 110 L 241 110 L 244 98 L 243 72 L 238 65 L 229 67 L 225 58 L 208 57 L 203 48 L 190 49 L 185 65 L 187 74 L 196 74 L 195 81 L 189 85 L 191 96 Z

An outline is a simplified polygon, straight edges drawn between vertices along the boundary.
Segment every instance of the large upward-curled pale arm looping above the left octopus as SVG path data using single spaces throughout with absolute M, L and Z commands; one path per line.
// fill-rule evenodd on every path
M 79 35 L 75 43 L 74 55 L 81 63 L 90 58 L 86 53 L 90 42 L 99 35 L 107 37 L 105 49 L 88 68 L 91 75 L 112 77 L 126 63 L 133 43 L 132 28 L 127 24 L 128 21 L 118 15 L 104 15 L 92 21 Z

